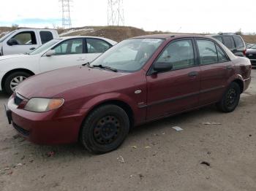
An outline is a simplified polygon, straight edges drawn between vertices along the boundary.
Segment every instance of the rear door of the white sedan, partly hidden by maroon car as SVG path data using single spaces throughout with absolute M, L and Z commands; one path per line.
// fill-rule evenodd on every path
M 111 44 L 102 39 L 86 38 L 86 61 L 91 62 L 103 52 L 112 47 Z

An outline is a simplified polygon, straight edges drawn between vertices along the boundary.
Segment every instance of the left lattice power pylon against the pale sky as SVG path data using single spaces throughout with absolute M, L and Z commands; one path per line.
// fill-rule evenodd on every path
M 72 0 L 59 0 L 62 11 L 62 28 L 71 28 L 70 3 Z

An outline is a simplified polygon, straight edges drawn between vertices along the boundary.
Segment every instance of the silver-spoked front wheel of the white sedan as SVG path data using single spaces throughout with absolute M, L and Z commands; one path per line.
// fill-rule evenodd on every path
M 31 74 L 25 71 L 15 71 L 9 74 L 4 80 L 5 93 L 7 93 L 8 95 L 12 95 L 13 91 L 15 91 L 18 84 L 30 76 Z

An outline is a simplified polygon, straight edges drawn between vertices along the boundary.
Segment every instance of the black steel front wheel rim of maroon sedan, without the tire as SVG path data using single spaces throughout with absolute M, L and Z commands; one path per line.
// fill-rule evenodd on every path
M 116 117 L 102 117 L 94 127 L 94 139 L 99 144 L 110 144 L 116 140 L 119 131 L 120 122 Z

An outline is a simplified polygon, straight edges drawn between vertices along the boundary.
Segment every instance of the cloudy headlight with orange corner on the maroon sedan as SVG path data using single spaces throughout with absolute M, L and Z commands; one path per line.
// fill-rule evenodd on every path
M 48 112 L 58 109 L 62 104 L 64 104 L 62 98 L 31 98 L 24 109 L 30 112 Z

